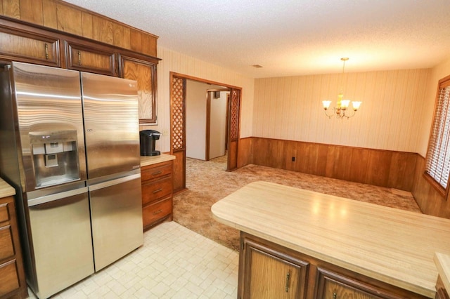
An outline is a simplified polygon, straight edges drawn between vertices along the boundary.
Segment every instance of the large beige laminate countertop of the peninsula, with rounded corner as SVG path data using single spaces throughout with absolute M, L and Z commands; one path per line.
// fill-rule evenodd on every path
M 450 254 L 449 219 L 271 182 L 252 182 L 211 210 L 238 230 L 430 298 L 435 253 Z

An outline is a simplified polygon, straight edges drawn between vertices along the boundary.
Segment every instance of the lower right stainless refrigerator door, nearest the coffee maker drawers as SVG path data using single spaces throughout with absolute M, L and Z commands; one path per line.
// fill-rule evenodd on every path
M 96 271 L 143 244 L 141 174 L 89 186 Z

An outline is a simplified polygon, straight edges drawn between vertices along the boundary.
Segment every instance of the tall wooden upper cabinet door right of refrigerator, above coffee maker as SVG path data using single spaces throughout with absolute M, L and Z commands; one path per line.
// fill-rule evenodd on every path
M 157 124 L 156 63 L 154 61 L 119 56 L 120 77 L 138 82 L 139 123 Z

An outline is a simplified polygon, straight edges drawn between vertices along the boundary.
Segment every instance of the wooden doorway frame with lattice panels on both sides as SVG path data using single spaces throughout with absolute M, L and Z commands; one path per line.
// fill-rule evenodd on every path
M 230 95 L 235 95 L 233 100 L 229 101 L 229 114 L 227 115 L 227 123 L 229 124 L 229 139 L 227 142 L 228 160 L 226 171 L 234 171 L 238 168 L 238 142 L 240 136 L 240 102 L 242 88 L 230 84 L 193 77 L 186 74 L 179 74 L 177 72 L 170 72 L 169 77 L 170 154 L 173 154 L 176 157 L 174 160 L 173 175 L 174 192 L 180 192 L 186 189 L 186 80 L 224 86 L 224 88 L 229 88 Z M 174 91 L 174 81 L 176 80 L 182 80 L 182 88 L 179 88 L 178 91 Z M 182 93 L 181 95 L 179 94 L 180 92 Z M 233 111 L 234 113 L 232 113 Z M 231 124 L 233 124 L 233 126 L 231 126 Z M 231 130 L 233 130 L 233 134 Z M 230 136 L 234 136 L 233 140 L 231 140 Z

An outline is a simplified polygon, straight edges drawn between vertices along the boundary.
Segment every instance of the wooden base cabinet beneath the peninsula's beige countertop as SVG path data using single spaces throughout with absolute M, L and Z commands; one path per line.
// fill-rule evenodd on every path
M 425 298 L 245 232 L 240 246 L 240 299 Z

